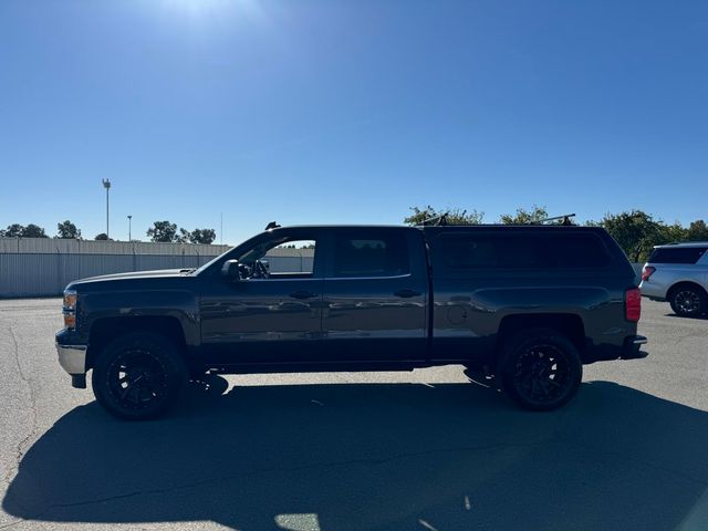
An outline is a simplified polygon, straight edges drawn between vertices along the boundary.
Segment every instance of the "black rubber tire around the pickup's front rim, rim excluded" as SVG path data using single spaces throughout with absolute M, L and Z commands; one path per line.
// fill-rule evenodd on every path
M 133 410 L 122 407 L 112 396 L 108 372 L 116 356 L 136 347 L 149 352 L 159 360 L 159 364 L 165 367 L 167 388 L 164 398 L 154 407 Z M 111 415 L 123 420 L 146 420 L 163 415 L 174 405 L 187 381 L 187 374 L 185 363 L 171 342 L 156 334 L 134 332 L 117 337 L 103 348 L 93 368 L 91 384 L 96 400 Z

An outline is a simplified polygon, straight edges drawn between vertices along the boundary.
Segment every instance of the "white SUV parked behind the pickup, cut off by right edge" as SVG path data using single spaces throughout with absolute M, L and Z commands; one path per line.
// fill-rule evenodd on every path
M 656 246 L 642 270 L 642 294 L 668 301 L 677 315 L 708 312 L 708 242 Z

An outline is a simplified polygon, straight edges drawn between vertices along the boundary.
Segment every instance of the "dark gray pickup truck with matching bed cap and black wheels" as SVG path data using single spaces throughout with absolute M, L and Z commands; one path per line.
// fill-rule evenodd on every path
M 273 257 L 288 247 L 306 257 Z M 73 386 L 92 369 L 97 400 L 126 419 L 162 414 L 207 372 L 444 364 L 553 409 L 583 364 L 646 356 L 634 270 L 585 227 L 274 228 L 198 270 L 72 282 L 63 312 Z

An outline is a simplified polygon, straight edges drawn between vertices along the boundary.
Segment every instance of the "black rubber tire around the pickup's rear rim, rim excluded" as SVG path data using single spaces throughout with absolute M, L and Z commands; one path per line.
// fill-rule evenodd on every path
M 516 365 L 519 357 L 534 345 L 551 345 L 561 351 L 566 360 L 569 382 L 563 394 L 552 402 L 531 402 L 517 387 L 514 381 Z M 528 330 L 504 342 L 498 367 L 502 391 L 521 408 L 537 412 L 558 409 L 568 404 L 577 393 L 583 379 L 583 364 L 577 348 L 564 335 L 545 329 Z

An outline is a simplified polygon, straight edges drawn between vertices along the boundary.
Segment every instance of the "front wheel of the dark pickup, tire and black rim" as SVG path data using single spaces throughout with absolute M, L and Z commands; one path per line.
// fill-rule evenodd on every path
M 177 399 L 188 372 L 175 345 L 160 335 L 119 336 L 100 354 L 91 383 L 98 403 L 114 417 L 147 420 Z

